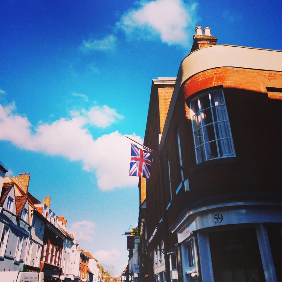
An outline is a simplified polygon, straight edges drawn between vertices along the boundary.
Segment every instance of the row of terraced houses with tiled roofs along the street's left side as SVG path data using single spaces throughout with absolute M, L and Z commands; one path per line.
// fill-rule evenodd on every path
M 97 260 L 90 270 L 93 257 L 81 252 L 67 220 L 51 210 L 51 197 L 41 202 L 29 192 L 29 173 L 11 178 L 7 172 L 0 163 L 0 271 L 42 271 L 45 282 L 97 281 L 88 279 L 98 273 Z

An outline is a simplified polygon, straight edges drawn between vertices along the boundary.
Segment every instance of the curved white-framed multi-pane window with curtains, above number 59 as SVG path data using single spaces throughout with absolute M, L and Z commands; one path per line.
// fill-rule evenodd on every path
M 235 157 L 222 89 L 207 91 L 190 102 L 197 164 Z

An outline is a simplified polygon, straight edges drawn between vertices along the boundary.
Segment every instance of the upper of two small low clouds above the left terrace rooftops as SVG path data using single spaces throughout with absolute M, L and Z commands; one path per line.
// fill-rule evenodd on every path
M 95 235 L 96 224 L 91 221 L 78 221 L 70 224 L 68 228 L 69 234 L 74 234 L 74 238 L 78 241 L 92 242 Z

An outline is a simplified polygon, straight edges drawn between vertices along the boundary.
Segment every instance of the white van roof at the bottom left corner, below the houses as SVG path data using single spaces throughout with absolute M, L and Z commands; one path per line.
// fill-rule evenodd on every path
M 44 282 L 44 273 L 0 271 L 0 282 Z

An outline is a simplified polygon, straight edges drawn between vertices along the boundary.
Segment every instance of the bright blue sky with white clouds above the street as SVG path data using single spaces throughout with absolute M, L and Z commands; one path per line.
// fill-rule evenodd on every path
M 0 3 L 0 161 L 120 274 L 138 222 L 130 140 L 144 138 L 152 79 L 175 77 L 195 27 L 218 44 L 281 50 L 280 1 Z

